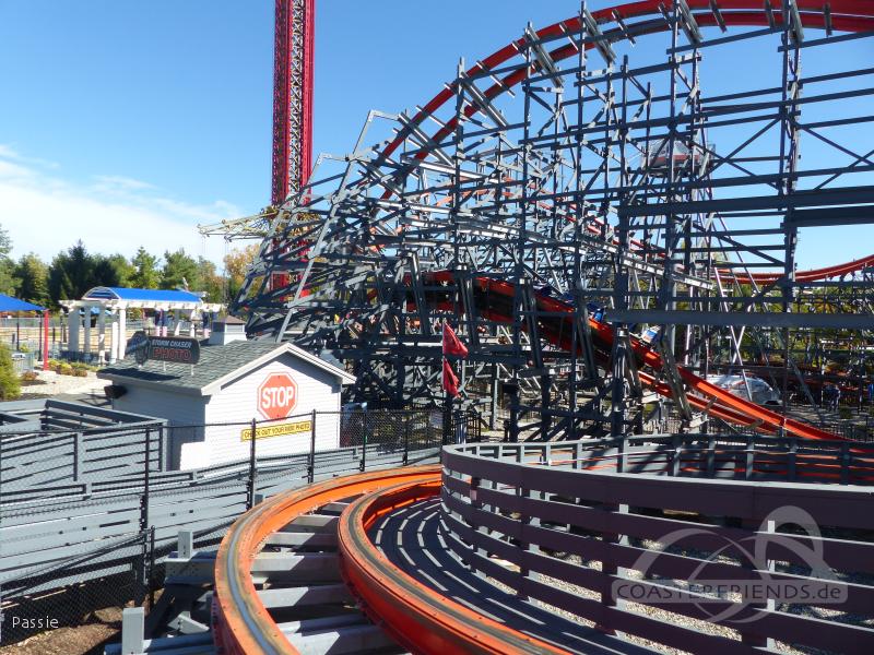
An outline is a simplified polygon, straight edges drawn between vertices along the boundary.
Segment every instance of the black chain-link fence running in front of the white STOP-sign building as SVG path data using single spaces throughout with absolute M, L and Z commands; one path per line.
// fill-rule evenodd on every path
M 299 448 L 276 452 L 271 430 L 300 422 L 307 430 L 295 436 Z M 453 425 L 461 422 L 475 421 L 459 415 Z M 319 428 L 331 424 L 339 442 L 324 448 Z M 169 469 L 180 441 L 214 428 L 238 431 L 244 456 Z M 94 610 L 115 605 L 119 593 L 139 603 L 161 579 L 160 562 L 176 546 L 179 529 L 193 531 L 198 548 L 215 545 L 259 498 L 339 475 L 435 461 L 445 432 L 441 412 L 422 409 L 140 426 L 111 436 L 99 429 L 4 433 L 0 609 L 9 616 L 43 607 L 38 603 L 60 608 L 69 596 L 80 605 L 86 598 Z M 147 564 L 152 560 L 156 569 Z M 49 614 L 66 616 L 60 609 Z M 0 643 L 27 633 L 7 629 Z

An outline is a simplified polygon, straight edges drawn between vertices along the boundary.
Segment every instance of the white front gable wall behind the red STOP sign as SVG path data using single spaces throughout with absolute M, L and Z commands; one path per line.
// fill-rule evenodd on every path
M 252 418 L 262 420 L 258 412 L 258 386 L 272 373 L 290 373 L 297 383 L 297 405 L 292 416 L 284 421 L 272 421 L 274 426 L 283 422 L 309 420 L 312 409 L 317 412 L 334 412 L 333 415 L 320 415 L 316 420 L 316 450 L 338 448 L 340 444 L 340 381 L 326 371 L 302 361 L 297 357 L 284 354 L 273 361 L 249 371 L 245 377 L 226 384 L 215 393 L 206 405 L 206 422 L 243 424 Z M 244 425 L 227 427 L 210 427 L 206 434 L 208 456 L 210 464 L 220 464 L 245 460 L 249 456 L 249 441 L 243 441 Z M 309 452 L 310 433 L 283 434 L 258 439 L 258 455 L 282 455 Z M 186 462 L 184 462 L 186 464 Z

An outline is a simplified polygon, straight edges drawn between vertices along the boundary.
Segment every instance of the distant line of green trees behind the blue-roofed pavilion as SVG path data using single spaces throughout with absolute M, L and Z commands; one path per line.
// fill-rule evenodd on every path
M 258 246 L 235 249 L 224 258 L 224 271 L 185 249 L 165 251 L 162 257 L 140 247 L 128 259 L 123 254 L 90 252 L 82 241 L 56 254 L 46 263 L 34 253 L 17 261 L 10 257 L 12 240 L 0 226 L 0 293 L 57 308 L 60 300 L 81 298 L 95 286 L 205 291 L 209 302 L 229 302 L 258 253 Z

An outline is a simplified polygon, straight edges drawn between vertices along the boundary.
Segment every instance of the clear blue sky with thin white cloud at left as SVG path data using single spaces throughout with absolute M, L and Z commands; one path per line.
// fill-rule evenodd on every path
M 473 62 L 527 21 L 578 7 L 320 0 L 316 153 L 350 150 L 370 108 L 430 98 L 460 56 Z M 0 223 L 15 254 L 50 258 L 82 237 L 104 252 L 142 242 L 221 259 L 193 226 L 269 201 L 272 22 L 272 0 L 0 0 Z

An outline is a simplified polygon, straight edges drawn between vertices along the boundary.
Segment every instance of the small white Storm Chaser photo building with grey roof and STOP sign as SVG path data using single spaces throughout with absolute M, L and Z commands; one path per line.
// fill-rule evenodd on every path
M 236 319 L 215 325 L 194 365 L 132 358 L 104 368 L 113 408 L 165 418 L 170 468 L 187 471 L 249 456 L 251 420 L 261 455 L 340 444 L 340 392 L 355 378 L 291 344 L 245 341 Z M 221 425 L 218 425 L 221 424 Z

